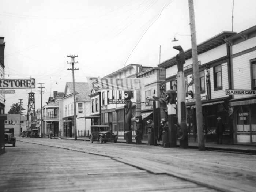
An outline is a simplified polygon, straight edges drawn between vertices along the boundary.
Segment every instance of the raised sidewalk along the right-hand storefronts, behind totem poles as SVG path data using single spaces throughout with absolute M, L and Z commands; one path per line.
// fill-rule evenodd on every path
M 59 138 L 55 138 L 59 139 Z M 61 139 L 72 139 L 74 138 L 61 138 Z M 89 138 L 87 137 L 79 137 L 77 140 L 84 140 L 84 141 L 90 141 Z M 136 143 L 136 140 L 132 140 L 133 144 Z M 124 139 L 118 139 L 117 143 L 125 143 Z M 142 140 L 142 144 L 147 144 L 146 140 Z M 157 142 L 158 145 L 162 144 L 162 142 Z M 198 143 L 197 142 L 189 142 L 188 143 L 189 148 L 198 148 Z M 212 142 L 205 142 L 205 149 L 206 150 L 218 150 L 218 151 L 232 151 L 232 152 L 237 152 L 237 153 L 252 153 L 256 154 L 256 146 L 250 146 L 250 145 L 238 145 L 238 144 L 216 144 Z M 179 147 L 179 141 L 177 141 L 177 147 Z

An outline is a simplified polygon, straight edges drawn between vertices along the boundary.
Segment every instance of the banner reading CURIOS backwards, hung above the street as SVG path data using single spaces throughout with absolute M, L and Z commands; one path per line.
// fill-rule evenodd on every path
M 141 90 L 144 87 L 143 78 L 100 78 L 87 77 L 91 89 L 102 90 Z

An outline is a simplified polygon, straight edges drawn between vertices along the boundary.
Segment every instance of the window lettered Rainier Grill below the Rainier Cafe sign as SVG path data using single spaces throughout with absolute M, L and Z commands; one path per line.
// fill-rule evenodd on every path
M 248 106 L 240 106 L 237 110 L 237 132 L 250 131 L 250 115 Z

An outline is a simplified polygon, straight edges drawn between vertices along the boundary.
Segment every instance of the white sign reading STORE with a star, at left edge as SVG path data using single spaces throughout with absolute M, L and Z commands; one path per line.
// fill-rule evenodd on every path
M 35 88 L 35 79 L 0 79 L 0 88 Z

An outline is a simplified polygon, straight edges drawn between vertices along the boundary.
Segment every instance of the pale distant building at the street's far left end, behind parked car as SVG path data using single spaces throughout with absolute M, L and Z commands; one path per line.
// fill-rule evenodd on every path
M 27 118 L 19 114 L 7 114 L 7 119 L 4 122 L 4 128 L 14 128 L 14 135 L 19 135 L 20 132 L 26 131 Z M 19 132 L 20 126 L 20 132 Z

